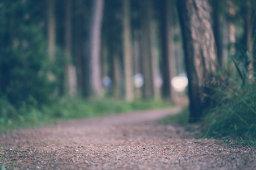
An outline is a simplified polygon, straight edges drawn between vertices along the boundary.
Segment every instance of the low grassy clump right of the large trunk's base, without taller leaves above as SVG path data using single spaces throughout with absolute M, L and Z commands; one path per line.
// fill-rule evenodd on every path
M 224 93 L 224 92 L 223 92 Z M 224 93 L 220 105 L 205 117 L 205 137 L 256 139 L 256 87 L 249 84 L 238 92 Z

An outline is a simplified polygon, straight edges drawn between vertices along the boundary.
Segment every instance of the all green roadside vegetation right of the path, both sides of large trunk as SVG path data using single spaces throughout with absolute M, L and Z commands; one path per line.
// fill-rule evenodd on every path
M 212 109 L 199 122 L 203 138 L 236 139 L 243 145 L 256 141 L 256 80 L 250 67 L 252 59 L 241 45 L 233 44 L 237 53 L 229 57 L 229 65 L 220 75 L 222 81 L 211 87 Z M 224 74 L 225 72 L 225 74 Z M 188 124 L 188 109 L 165 117 L 164 124 Z

